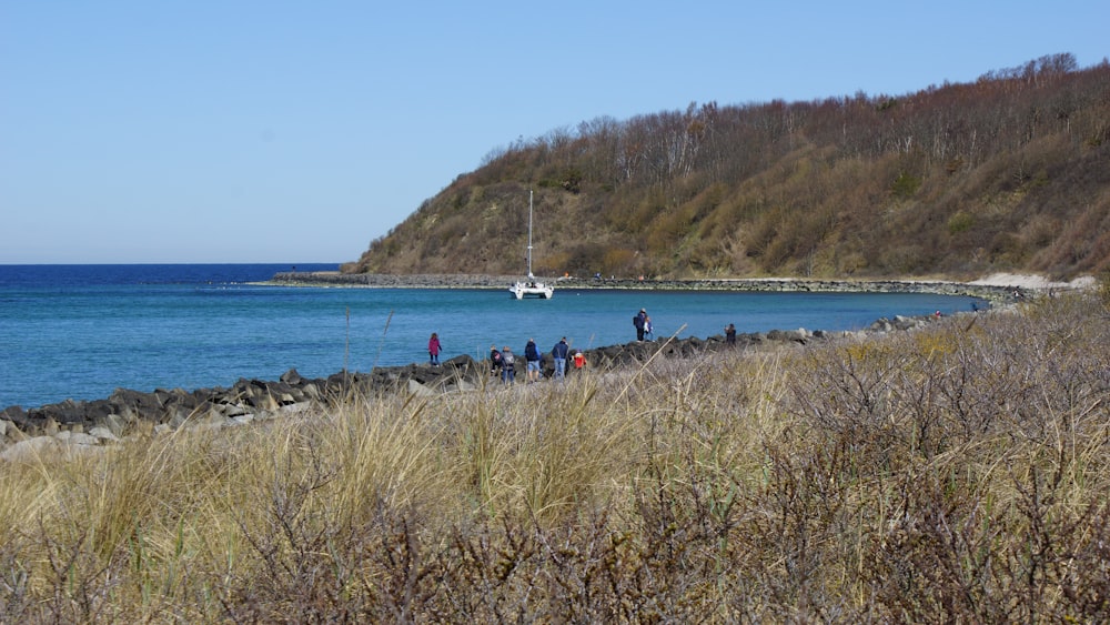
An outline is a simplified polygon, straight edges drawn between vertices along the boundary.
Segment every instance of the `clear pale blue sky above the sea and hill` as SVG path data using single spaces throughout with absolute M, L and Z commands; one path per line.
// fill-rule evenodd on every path
M 1089 67 L 1107 24 L 1107 0 L 0 0 L 0 263 L 351 261 L 517 138 Z

